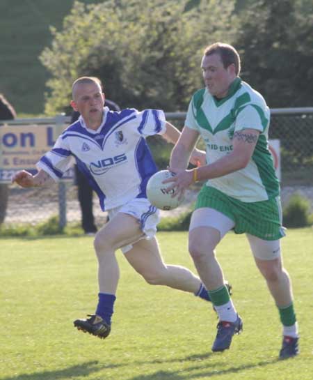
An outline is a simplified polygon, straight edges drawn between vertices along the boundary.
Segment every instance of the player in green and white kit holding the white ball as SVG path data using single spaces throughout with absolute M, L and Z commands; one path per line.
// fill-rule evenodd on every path
M 284 236 L 280 185 L 268 151 L 270 112 L 264 98 L 239 77 L 240 57 L 231 45 L 214 43 L 204 50 L 205 88 L 191 98 L 186 123 L 170 158 L 176 176 L 164 181 L 182 194 L 193 182 L 203 186 L 191 218 L 189 250 L 209 294 L 219 323 L 213 351 L 230 348 L 242 320 L 223 282 L 215 249 L 227 231 L 245 233 L 283 326 L 280 358 L 298 354 L 298 324 L 291 282 L 282 266 Z M 201 136 L 207 165 L 186 170 Z

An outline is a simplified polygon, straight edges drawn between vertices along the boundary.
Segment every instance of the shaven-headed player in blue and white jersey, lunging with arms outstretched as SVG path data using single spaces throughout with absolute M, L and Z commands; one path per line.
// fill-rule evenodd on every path
M 188 291 L 209 301 L 201 280 L 182 266 L 166 265 L 155 238 L 159 211 L 148 202 L 146 184 L 157 172 L 145 137 L 160 134 L 175 144 L 180 132 L 165 119 L 162 111 L 104 107 L 99 79 L 81 77 L 72 86 L 74 110 L 79 120 L 60 135 L 53 149 L 38 162 L 34 176 L 22 171 L 13 182 L 24 188 L 58 181 L 77 161 L 99 197 L 109 222 L 95 236 L 99 263 L 99 302 L 95 314 L 77 319 L 74 326 L 98 337 L 107 337 L 120 277 L 115 252 L 121 248 L 126 259 L 143 278 L 154 285 Z M 191 162 L 205 163 L 205 154 L 195 149 Z

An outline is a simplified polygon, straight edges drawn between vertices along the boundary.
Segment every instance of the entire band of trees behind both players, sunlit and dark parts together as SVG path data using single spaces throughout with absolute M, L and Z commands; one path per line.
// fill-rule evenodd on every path
M 51 77 L 46 113 L 63 111 L 74 79 L 97 75 L 122 107 L 186 109 L 202 86 L 203 48 L 232 43 L 242 77 L 270 107 L 312 105 L 310 0 L 76 1 L 40 59 Z

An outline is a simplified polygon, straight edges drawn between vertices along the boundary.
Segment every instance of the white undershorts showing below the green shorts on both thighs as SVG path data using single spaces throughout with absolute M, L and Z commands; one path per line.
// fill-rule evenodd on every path
M 193 211 L 189 231 L 197 227 L 212 227 L 220 232 L 220 239 L 234 228 L 234 221 L 214 208 L 203 207 Z M 273 260 L 280 257 L 280 239 L 267 241 L 246 234 L 253 255 L 259 260 Z

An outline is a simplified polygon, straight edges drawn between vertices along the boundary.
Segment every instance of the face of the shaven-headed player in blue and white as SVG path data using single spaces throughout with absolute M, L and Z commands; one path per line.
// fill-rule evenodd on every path
M 76 84 L 71 105 L 75 111 L 79 111 L 87 124 L 102 122 L 104 93 L 99 84 L 95 82 Z

